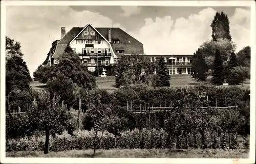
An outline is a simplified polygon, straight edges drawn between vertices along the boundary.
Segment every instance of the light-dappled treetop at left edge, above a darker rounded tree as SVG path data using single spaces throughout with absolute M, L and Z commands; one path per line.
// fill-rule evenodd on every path
M 22 47 L 20 45 L 20 42 L 14 41 L 14 39 L 9 38 L 8 36 L 5 36 L 5 40 L 6 40 L 6 44 L 5 44 L 6 60 L 14 56 L 23 57 L 24 54 L 20 49 Z

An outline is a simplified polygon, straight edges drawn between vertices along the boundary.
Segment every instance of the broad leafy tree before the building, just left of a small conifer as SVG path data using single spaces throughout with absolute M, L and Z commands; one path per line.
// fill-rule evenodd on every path
M 153 74 L 153 63 L 149 59 L 138 56 L 122 56 L 116 66 L 116 86 L 131 84 L 148 84 L 147 76 Z

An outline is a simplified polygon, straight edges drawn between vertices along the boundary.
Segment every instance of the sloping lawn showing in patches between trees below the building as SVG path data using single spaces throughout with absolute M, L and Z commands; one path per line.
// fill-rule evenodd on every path
M 210 77 L 207 81 L 210 80 Z M 199 82 L 195 79 L 189 77 L 189 75 L 172 75 L 170 76 L 170 86 L 173 87 L 189 87 L 198 84 Z M 99 89 L 105 89 L 106 91 L 112 93 L 115 89 L 115 77 L 106 76 L 106 77 L 96 77 L 96 84 Z M 45 84 L 41 84 L 38 81 L 33 81 L 30 86 L 34 90 L 42 90 L 46 87 Z M 242 86 L 242 85 L 240 85 Z M 245 89 L 250 89 L 250 80 L 244 81 L 243 87 Z

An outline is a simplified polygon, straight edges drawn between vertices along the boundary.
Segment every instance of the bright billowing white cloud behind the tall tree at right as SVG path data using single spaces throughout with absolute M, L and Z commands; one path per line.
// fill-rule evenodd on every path
M 216 11 L 212 8 L 198 14 L 180 17 L 145 18 L 139 32 L 129 32 L 144 45 L 146 54 L 193 54 L 199 45 L 211 39 L 210 24 Z M 230 34 L 238 50 L 250 45 L 250 12 L 237 8 L 230 19 Z

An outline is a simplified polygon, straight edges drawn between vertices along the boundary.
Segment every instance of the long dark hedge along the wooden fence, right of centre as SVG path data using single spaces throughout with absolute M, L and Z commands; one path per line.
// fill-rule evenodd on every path
M 123 87 L 115 91 L 117 103 L 121 106 L 126 106 L 127 101 L 132 100 L 133 109 L 140 110 L 140 103 L 144 107 L 148 107 L 148 96 L 150 97 L 150 106 L 168 107 L 177 105 L 178 101 L 183 101 L 188 104 L 194 104 L 200 94 L 205 96 L 201 99 L 203 106 L 207 106 L 207 95 L 209 106 L 243 106 L 248 97 L 248 91 L 238 86 L 216 87 L 211 85 L 195 85 L 193 87 L 180 88 L 151 88 L 144 85 L 136 85 Z M 216 103 L 217 102 L 217 103 Z

